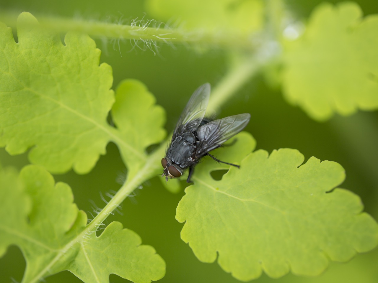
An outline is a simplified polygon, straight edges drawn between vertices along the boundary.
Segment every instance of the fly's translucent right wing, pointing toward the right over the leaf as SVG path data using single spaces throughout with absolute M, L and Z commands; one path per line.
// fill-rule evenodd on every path
M 222 145 L 226 140 L 242 131 L 248 124 L 251 115 L 239 114 L 211 121 L 197 130 L 197 153 L 200 156 Z M 200 157 L 199 156 L 199 157 Z

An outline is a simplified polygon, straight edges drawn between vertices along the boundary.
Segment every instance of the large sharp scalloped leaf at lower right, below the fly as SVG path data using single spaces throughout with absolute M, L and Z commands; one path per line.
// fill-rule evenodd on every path
M 225 161 L 241 151 L 238 143 L 222 150 L 218 158 Z M 209 175 L 211 160 L 201 163 L 177 207 L 177 220 L 186 221 L 181 238 L 201 261 L 213 262 L 218 253 L 219 265 L 243 281 L 262 271 L 273 278 L 290 270 L 318 275 L 329 260 L 344 262 L 373 249 L 377 223 L 361 212 L 357 195 L 334 189 L 345 178 L 341 165 L 303 161 L 294 149 L 270 156 L 258 150 L 220 181 Z

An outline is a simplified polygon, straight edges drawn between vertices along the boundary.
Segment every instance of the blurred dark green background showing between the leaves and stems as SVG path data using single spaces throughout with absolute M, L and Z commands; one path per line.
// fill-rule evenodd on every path
M 337 3 L 338 1 L 330 1 Z M 356 1 L 365 15 L 378 13 L 376 1 Z M 297 18 L 307 18 L 314 6 L 321 1 L 287 1 Z M 129 1 L 73 1 L 51 2 L 47 0 L 14 0 L 0 2 L 6 12 L 28 11 L 38 15 L 77 17 L 88 20 L 105 20 L 129 24 L 136 17 L 143 17 L 144 2 Z M 150 19 L 148 14 L 147 19 Z M 158 20 L 158 19 L 156 19 Z M 1 21 L 1 18 L 0 18 Z M 226 55 L 220 50 L 198 53 L 185 46 L 175 49 L 160 45 L 159 55 L 151 51 L 132 49 L 129 41 L 102 42 L 96 40 L 102 50 L 101 62 L 113 68 L 113 89 L 124 78 L 136 78 L 147 85 L 156 96 L 157 103 L 167 112 L 166 128 L 172 131 L 184 105 L 195 88 L 210 82 L 215 85 L 227 71 Z M 376 112 L 358 112 L 350 117 L 336 116 L 325 123 L 311 120 L 299 108 L 288 105 L 279 89 L 270 89 L 262 76 L 257 75 L 222 109 L 222 117 L 239 113 L 251 113 L 246 131 L 257 140 L 257 149 L 271 152 L 278 148 L 296 148 L 305 160 L 315 156 L 321 160 L 340 163 L 346 171 L 342 188 L 358 194 L 365 210 L 378 219 L 378 115 Z M 28 164 L 27 155 L 11 157 L 0 150 L 4 166 L 17 168 Z M 100 192 L 118 190 L 117 178 L 124 174 L 118 149 L 109 144 L 107 154 L 87 175 L 70 171 L 56 175 L 56 181 L 68 183 L 78 207 L 93 212 L 93 203 L 103 207 Z M 152 245 L 167 263 L 166 276 L 159 282 L 239 282 L 225 273 L 216 263 L 201 263 L 191 249 L 180 239 L 183 224 L 175 220 L 175 209 L 184 192 L 171 194 L 155 177 L 136 190 L 136 196 L 122 204 L 123 215 L 110 216 L 107 221 L 120 221 L 125 228 L 138 233 L 144 244 Z M 182 183 L 184 186 L 186 183 Z M 90 215 L 88 214 L 88 217 Z M 349 263 L 332 263 L 317 278 L 296 277 L 289 274 L 278 280 L 262 275 L 256 282 L 378 282 L 378 250 L 357 255 Z M 25 260 L 20 250 L 12 246 L 0 259 L 0 282 L 21 281 Z M 11 279 L 12 278 L 12 279 Z M 110 282 L 126 282 L 110 275 Z M 46 282 L 81 282 L 70 272 L 62 272 L 46 278 Z

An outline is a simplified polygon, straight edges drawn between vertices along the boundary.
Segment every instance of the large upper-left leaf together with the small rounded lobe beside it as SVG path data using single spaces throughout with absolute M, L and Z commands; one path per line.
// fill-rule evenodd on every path
M 62 44 L 26 12 L 17 35 L 18 43 L 0 25 L 0 146 L 13 155 L 31 148 L 30 161 L 54 173 L 73 167 L 84 174 L 113 141 L 135 175 L 147 160 L 145 148 L 165 136 L 164 111 L 147 88 L 136 80 L 120 84 L 116 129 L 107 123 L 115 101 L 112 69 L 99 65 L 91 38 L 68 33 Z

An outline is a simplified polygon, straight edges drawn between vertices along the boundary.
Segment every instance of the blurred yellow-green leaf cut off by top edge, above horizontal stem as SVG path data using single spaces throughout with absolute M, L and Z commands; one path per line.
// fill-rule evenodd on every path
M 148 0 L 146 9 L 160 20 L 179 20 L 184 29 L 249 34 L 262 28 L 263 2 Z

